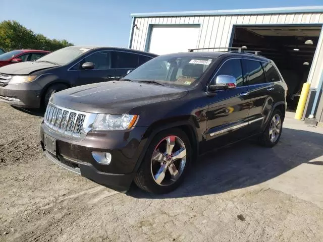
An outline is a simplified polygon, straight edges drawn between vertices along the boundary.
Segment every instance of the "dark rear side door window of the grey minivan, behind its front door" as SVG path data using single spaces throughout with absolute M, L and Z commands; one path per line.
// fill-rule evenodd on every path
M 135 69 L 139 66 L 139 55 L 115 51 L 113 65 L 115 69 Z

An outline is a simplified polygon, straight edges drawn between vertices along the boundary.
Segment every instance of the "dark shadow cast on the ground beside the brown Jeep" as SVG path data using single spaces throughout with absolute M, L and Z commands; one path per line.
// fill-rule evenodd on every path
M 191 167 L 184 183 L 166 195 L 150 195 L 132 186 L 129 196 L 136 198 L 180 198 L 223 193 L 263 183 L 323 155 L 323 134 L 283 129 L 274 148 L 242 142 L 203 155 Z

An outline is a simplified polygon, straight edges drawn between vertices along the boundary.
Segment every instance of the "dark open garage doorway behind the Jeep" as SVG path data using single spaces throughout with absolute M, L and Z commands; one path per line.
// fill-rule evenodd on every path
M 321 25 L 235 26 L 232 45 L 260 50 L 272 59 L 288 85 L 288 108 L 295 110 L 307 81 Z

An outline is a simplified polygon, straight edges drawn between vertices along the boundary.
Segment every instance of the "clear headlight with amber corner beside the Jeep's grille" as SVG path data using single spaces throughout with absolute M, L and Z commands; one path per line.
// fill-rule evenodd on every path
M 128 130 L 135 125 L 138 118 L 138 115 L 131 114 L 98 114 L 93 130 Z

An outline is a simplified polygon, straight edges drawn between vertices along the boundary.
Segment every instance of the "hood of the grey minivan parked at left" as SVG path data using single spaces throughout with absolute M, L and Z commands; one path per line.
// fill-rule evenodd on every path
M 35 71 L 40 71 L 51 67 L 57 66 L 44 62 L 22 62 L 1 67 L 0 73 L 9 75 L 28 75 Z

